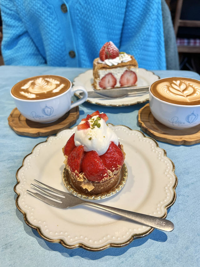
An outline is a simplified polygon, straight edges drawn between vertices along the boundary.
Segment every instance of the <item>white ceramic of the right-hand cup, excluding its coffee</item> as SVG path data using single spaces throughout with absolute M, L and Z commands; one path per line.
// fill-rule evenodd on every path
M 165 78 L 165 80 L 167 79 Z M 149 106 L 154 118 L 163 125 L 173 129 L 187 129 L 200 124 L 200 104 L 178 105 L 163 101 L 153 95 L 151 92 L 152 85 L 149 87 Z

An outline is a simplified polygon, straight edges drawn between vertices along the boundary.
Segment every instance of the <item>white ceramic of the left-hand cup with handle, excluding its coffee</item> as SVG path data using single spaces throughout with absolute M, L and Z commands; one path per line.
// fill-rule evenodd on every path
M 32 78 L 37 77 L 44 76 L 36 76 Z M 61 76 L 57 77 L 68 80 L 67 78 Z M 12 94 L 12 90 L 11 96 L 15 101 L 17 109 L 28 120 L 39 123 L 50 123 L 61 118 L 66 112 L 71 110 L 73 107 L 82 104 L 88 97 L 88 92 L 83 86 L 72 87 L 71 81 L 68 80 L 68 82 L 70 83 L 68 90 L 66 90 L 60 95 L 56 95 L 46 99 L 20 99 Z M 83 91 L 84 95 L 81 99 L 72 103 L 72 96 L 76 91 Z

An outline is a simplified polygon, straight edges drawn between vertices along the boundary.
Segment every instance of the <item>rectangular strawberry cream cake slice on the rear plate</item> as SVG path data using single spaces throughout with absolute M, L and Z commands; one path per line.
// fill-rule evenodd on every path
M 93 61 L 93 86 L 96 90 L 134 86 L 137 84 L 138 63 L 133 55 L 119 52 L 107 42 Z

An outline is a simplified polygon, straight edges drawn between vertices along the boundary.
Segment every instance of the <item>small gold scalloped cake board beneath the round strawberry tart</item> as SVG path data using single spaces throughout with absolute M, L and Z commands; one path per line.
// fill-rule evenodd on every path
M 89 200 L 98 200 L 98 199 L 104 199 L 104 198 L 109 198 L 109 197 L 114 196 L 124 187 L 127 181 L 127 178 L 128 178 L 128 170 L 127 170 L 126 164 L 124 163 L 120 171 L 120 176 L 119 176 L 117 185 L 112 190 L 109 190 L 108 192 L 105 192 L 103 194 L 90 195 L 86 193 L 83 194 L 77 189 L 75 189 L 71 182 L 68 170 L 66 168 L 64 168 L 63 170 L 63 183 L 65 187 L 68 189 L 68 191 L 72 193 L 74 196 L 77 196 L 78 198 L 89 199 Z

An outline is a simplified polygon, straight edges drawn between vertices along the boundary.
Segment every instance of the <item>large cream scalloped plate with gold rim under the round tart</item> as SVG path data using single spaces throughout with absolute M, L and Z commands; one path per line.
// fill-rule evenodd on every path
M 173 162 L 155 140 L 142 132 L 108 125 L 126 152 L 128 179 L 120 192 L 98 203 L 165 218 L 176 199 L 178 180 Z M 89 250 L 122 247 L 152 232 L 151 227 L 91 207 L 55 208 L 26 192 L 34 191 L 30 186 L 33 179 L 67 191 L 62 181 L 62 147 L 74 132 L 75 127 L 49 136 L 33 148 L 17 170 L 16 205 L 25 222 L 47 241 Z

